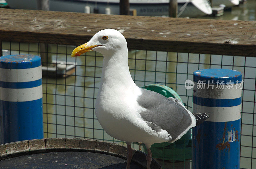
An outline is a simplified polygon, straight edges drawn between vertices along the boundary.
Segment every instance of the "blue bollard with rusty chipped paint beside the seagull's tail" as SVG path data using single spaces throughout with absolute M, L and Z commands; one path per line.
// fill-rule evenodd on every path
M 193 81 L 193 112 L 210 118 L 192 130 L 192 168 L 240 169 L 242 73 L 203 69 Z

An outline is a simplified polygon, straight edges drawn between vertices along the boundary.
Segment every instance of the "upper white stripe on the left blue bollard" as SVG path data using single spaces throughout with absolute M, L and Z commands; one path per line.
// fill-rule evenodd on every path
M 0 81 L 28 82 L 28 81 L 36 81 L 41 78 L 42 78 L 42 66 L 29 68 L 29 69 L 0 68 Z

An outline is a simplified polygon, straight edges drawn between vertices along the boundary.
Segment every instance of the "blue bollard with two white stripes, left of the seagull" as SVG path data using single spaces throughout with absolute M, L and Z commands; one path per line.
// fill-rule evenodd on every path
M 0 57 L 1 144 L 44 137 L 42 97 L 39 56 Z

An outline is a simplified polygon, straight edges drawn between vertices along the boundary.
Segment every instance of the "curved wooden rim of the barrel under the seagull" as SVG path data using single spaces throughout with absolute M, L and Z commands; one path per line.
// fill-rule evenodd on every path
M 113 142 L 79 138 L 46 138 L 1 144 L 0 161 L 29 154 L 57 151 L 95 152 L 127 160 L 127 147 Z M 139 150 L 132 149 L 132 161 L 147 168 L 146 154 Z M 152 169 L 162 169 L 154 159 L 151 165 L 154 165 L 151 166 Z

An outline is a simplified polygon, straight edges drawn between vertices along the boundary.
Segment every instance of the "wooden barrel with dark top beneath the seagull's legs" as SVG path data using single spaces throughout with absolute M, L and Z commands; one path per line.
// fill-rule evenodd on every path
M 126 168 L 127 147 L 112 142 L 49 138 L 0 145 L 0 166 L 7 168 Z M 147 167 L 146 154 L 132 149 L 131 169 Z M 161 169 L 152 159 L 151 169 Z

